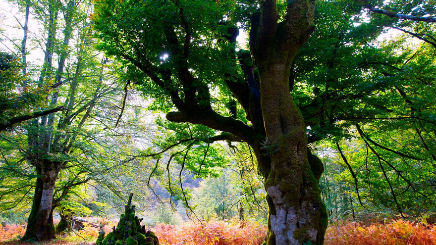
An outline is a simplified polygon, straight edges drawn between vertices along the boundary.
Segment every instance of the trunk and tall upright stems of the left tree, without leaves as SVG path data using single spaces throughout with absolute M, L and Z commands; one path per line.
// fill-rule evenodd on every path
M 66 11 L 64 12 L 65 28 L 63 30 L 64 40 L 63 46 L 59 54 L 57 70 L 55 74 L 54 85 L 52 88 L 57 88 L 61 83 L 65 60 L 68 55 L 68 45 L 72 35 L 72 19 L 74 0 L 68 1 Z M 58 9 L 52 3 L 49 3 L 49 23 L 48 23 L 48 40 L 45 50 L 45 62 L 44 67 L 40 74 L 39 86 L 44 84 L 44 80 L 49 80 L 52 77 L 52 63 L 54 47 L 56 44 L 56 30 L 57 30 L 57 18 Z M 58 91 L 54 91 L 52 98 L 47 97 L 47 103 L 52 106 L 57 104 Z M 56 108 L 63 109 L 63 106 Z M 60 110 L 58 109 L 58 110 Z M 41 123 L 38 128 L 34 128 L 33 131 L 29 131 L 29 147 L 33 155 L 29 157 L 29 163 L 34 165 L 37 170 L 39 169 L 39 177 L 37 178 L 37 188 L 35 190 L 35 197 L 33 199 L 31 213 L 28 219 L 28 225 L 26 228 L 25 236 L 22 240 L 35 240 L 44 241 L 53 239 L 55 237 L 55 227 L 53 223 L 53 211 L 55 207 L 54 203 L 54 187 L 57 180 L 57 176 L 61 170 L 62 163 L 49 159 L 50 153 L 55 152 L 56 147 L 52 147 L 52 138 L 54 133 L 55 117 L 54 115 L 47 114 L 41 118 Z M 37 121 L 33 122 L 34 125 L 38 125 Z M 56 152 L 55 152 L 56 153 Z

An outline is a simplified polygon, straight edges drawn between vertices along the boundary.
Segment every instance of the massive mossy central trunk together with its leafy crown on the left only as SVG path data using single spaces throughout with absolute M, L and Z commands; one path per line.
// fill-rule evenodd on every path
M 255 3 L 238 4 L 97 1 L 93 20 L 102 49 L 128 61 L 134 82 L 177 110 L 166 114 L 168 120 L 222 132 L 203 139 L 207 143 L 244 141 L 253 148 L 268 192 L 266 244 L 323 244 L 327 212 L 316 179 L 320 171 L 311 171 L 306 126 L 289 90 L 295 55 L 315 28 L 315 2 L 277 8 L 275 1 L 260 1 L 251 16 L 250 51 L 239 51 L 239 65 L 235 25 L 248 16 L 232 11 Z M 218 88 L 248 120 L 219 111 L 213 98 Z

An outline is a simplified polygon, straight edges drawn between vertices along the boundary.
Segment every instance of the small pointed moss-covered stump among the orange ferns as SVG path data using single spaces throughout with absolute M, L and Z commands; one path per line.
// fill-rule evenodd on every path
M 145 226 L 141 226 L 141 221 L 135 216 L 135 206 L 127 205 L 116 229 L 106 237 L 101 232 L 96 245 L 159 245 L 159 240 L 153 232 L 146 232 Z

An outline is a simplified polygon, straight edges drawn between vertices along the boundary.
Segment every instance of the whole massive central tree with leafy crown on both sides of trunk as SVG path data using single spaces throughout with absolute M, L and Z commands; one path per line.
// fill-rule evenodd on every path
M 378 1 L 321 2 L 333 9 L 334 4 L 345 2 L 354 11 L 350 21 L 362 18 L 362 9 L 385 15 L 389 19 L 386 24 L 398 19 L 434 20 L 423 17 L 433 10 L 425 5 L 425 9 L 430 10 L 422 11 L 423 5 L 419 2 L 391 1 L 389 7 L 397 9 L 396 12 L 384 10 L 386 6 Z M 124 63 L 137 88 L 146 97 L 155 99 L 154 109 L 165 112 L 166 119 L 173 123 L 188 125 L 187 129 L 173 125 L 179 138 L 163 148 L 165 151 L 184 146 L 181 152 L 185 153 L 180 159 L 182 169 L 189 161 L 188 153 L 193 146 L 195 150 L 203 148 L 206 159 L 209 146 L 217 141 L 242 141 L 250 145 L 259 173 L 265 179 L 269 206 L 267 245 L 323 244 L 327 210 L 318 186 L 323 165 L 307 149 L 306 129 L 313 128 L 309 131 L 311 143 L 331 135 L 343 137 L 350 124 L 347 128 L 337 122 L 352 120 L 351 115 L 356 111 L 344 114 L 340 103 L 359 105 L 359 101 L 368 100 L 368 105 L 374 105 L 371 93 L 334 97 L 339 90 L 357 84 L 358 80 L 353 79 L 358 75 L 342 79 L 327 73 L 321 78 L 326 87 L 320 86 L 326 91 L 319 94 L 320 88 L 314 90 L 309 103 L 297 106 L 291 91 L 298 96 L 303 90 L 294 87 L 298 75 L 295 73 L 298 64 L 294 61 L 316 29 L 314 11 L 313 0 L 97 0 L 92 16 L 101 39 L 100 48 Z M 377 23 L 364 25 L 360 31 L 368 32 L 362 36 L 378 36 L 387 25 Z M 373 28 L 371 24 L 375 24 Z M 249 29 L 250 50 L 236 46 L 237 25 Z M 422 34 L 416 35 L 425 38 Z M 313 45 L 309 48 L 317 49 L 317 45 Z M 335 49 L 334 44 L 328 49 Z M 311 61 L 310 54 L 303 57 L 303 66 L 298 68 L 305 68 L 304 61 Z M 325 64 L 320 63 L 320 66 Z M 335 90 L 330 91 L 330 87 Z M 350 102 L 348 98 L 355 99 Z M 329 101 L 337 103 L 327 104 Z M 327 105 L 331 106 L 328 107 L 331 113 L 327 113 Z M 333 113 L 335 108 L 339 111 L 337 117 Z M 371 111 L 371 107 L 357 110 L 360 115 L 377 112 Z M 189 125 L 193 125 L 192 128 Z M 182 128 L 186 131 L 180 130 Z M 359 130 L 365 138 L 363 132 Z M 204 161 L 186 166 L 199 170 Z M 170 160 L 167 168 L 169 164 Z M 184 195 L 183 188 L 181 191 Z

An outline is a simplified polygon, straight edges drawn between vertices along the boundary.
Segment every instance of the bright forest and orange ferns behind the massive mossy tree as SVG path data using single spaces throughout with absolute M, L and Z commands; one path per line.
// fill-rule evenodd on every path
M 231 3 L 183 4 L 200 18 L 202 7 L 219 14 Z M 242 58 L 248 16 L 256 4 L 234 3 L 239 17 L 229 18 L 241 20 L 235 23 L 240 36 L 234 72 L 244 74 L 250 66 Z M 65 225 L 73 216 L 112 226 L 133 193 L 143 224 L 168 244 L 186 237 L 193 244 L 262 243 L 267 193 L 253 149 L 200 124 L 167 121 L 164 113 L 174 105 L 162 96 L 166 92 L 147 83 L 108 41 L 139 35 L 137 30 L 102 27 L 94 4 L 100 6 L 76 0 L 1 3 L 0 239 L 37 237 L 29 231 L 37 231 L 36 224 L 27 232 L 20 225 L 34 216 L 32 205 L 44 189 L 39 180 L 51 166 L 56 171 L 47 178 L 53 183 L 47 215 L 63 227 L 57 224 L 54 234 L 40 240 L 56 234 L 79 242 Z M 134 1 L 113 4 L 121 9 Z M 149 4 L 135 11 L 162 10 L 158 1 Z M 286 2 L 277 6 L 285 11 Z M 124 25 L 134 26 L 135 11 L 123 12 L 132 16 Z M 326 244 L 356 243 L 355 234 L 373 238 L 373 244 L 436 243 L 434 12 L 432 0 L 317 1 L 316 29 L 292 64 L 289 86 L 307 126 L 309 156 L 324 164 L 319 186 L 331 226 Z M 193 73 L 214 80 L 221 72 L 222 81 L 209 85 L 209 101 L 222 115 L 250 124 L 223 86 L 234 76 L 225 72 L 228 63 L 219 62 L 225 59 L 218 51 L 230 43 L 222 34 L 226 25 L 210 28 L 202 30 L 209 36 L 192 38 L 198 48 Z M 117 45 L 141 47 L 125 40 Z M 168 47 L 151 55 L 162 67 L 177 60 Z M 207 71 L 216 63 L 217 70 Z M 268 140 L 263 144 L 275 150 Z M 399 218 L 404 221 L 373 225 Z M 95 240 L 100 228 L 85 225 L 78 234 Z

